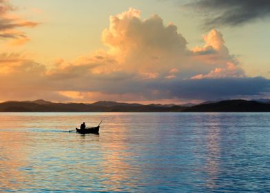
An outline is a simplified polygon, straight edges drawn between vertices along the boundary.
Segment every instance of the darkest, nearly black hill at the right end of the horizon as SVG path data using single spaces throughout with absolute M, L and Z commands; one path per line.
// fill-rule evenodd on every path
M 270 112 L 270 104 L 257 101 L 230 100 L 195 105 L 183 112 Z

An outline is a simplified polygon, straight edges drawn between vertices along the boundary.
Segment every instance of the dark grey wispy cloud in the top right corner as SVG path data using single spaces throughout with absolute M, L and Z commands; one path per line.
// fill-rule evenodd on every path
M 270 17 L 269 0 L 194 0 L 187 6 L 205 15 L 205 28 L 238 26 Z

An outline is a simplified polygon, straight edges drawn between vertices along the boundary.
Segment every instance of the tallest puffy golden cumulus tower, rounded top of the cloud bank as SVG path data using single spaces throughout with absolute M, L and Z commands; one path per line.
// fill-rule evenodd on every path
M 110 17 L 110 28 L 103 31 L 102 40 L 121 64 L 119 68 L 142 73 L 169 70 L 187 52 L 187 41 L 173 23 L 165 26 L 157 14 L 143 20 L 141 12 L 133 8 Z

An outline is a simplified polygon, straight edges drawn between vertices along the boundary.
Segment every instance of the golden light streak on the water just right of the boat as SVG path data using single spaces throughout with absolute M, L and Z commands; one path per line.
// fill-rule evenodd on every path
M 108 133 L 110 137 L 106 137 L 110 141 L 106 141 L 102 146 L 105 154 L 101 163 L 103 170 L 101 172 L 101 179 L 107 179 L 103 182 L 106 187 L 111 186 L 114 188 L 110 191 L 120 191 L 123 186 L 134 187 L 134 183 L 131 183 L 132 181 L 134 182 L 134 179 L 129 179 L 129 173 L 131 173 L 129 171 L 135 170 L 130 164 L 134 154 L 129 150 L 131 147 L 128 146 L 127 128 L 120 122 L 120 120 L 115 121 L 118 124 L 110 129 L 113 131 Z

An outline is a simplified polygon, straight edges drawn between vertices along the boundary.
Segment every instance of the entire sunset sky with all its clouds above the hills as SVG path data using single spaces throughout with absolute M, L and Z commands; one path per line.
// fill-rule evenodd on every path
M 270 1 L 0 0 L 0 101 L 269 98 Z

